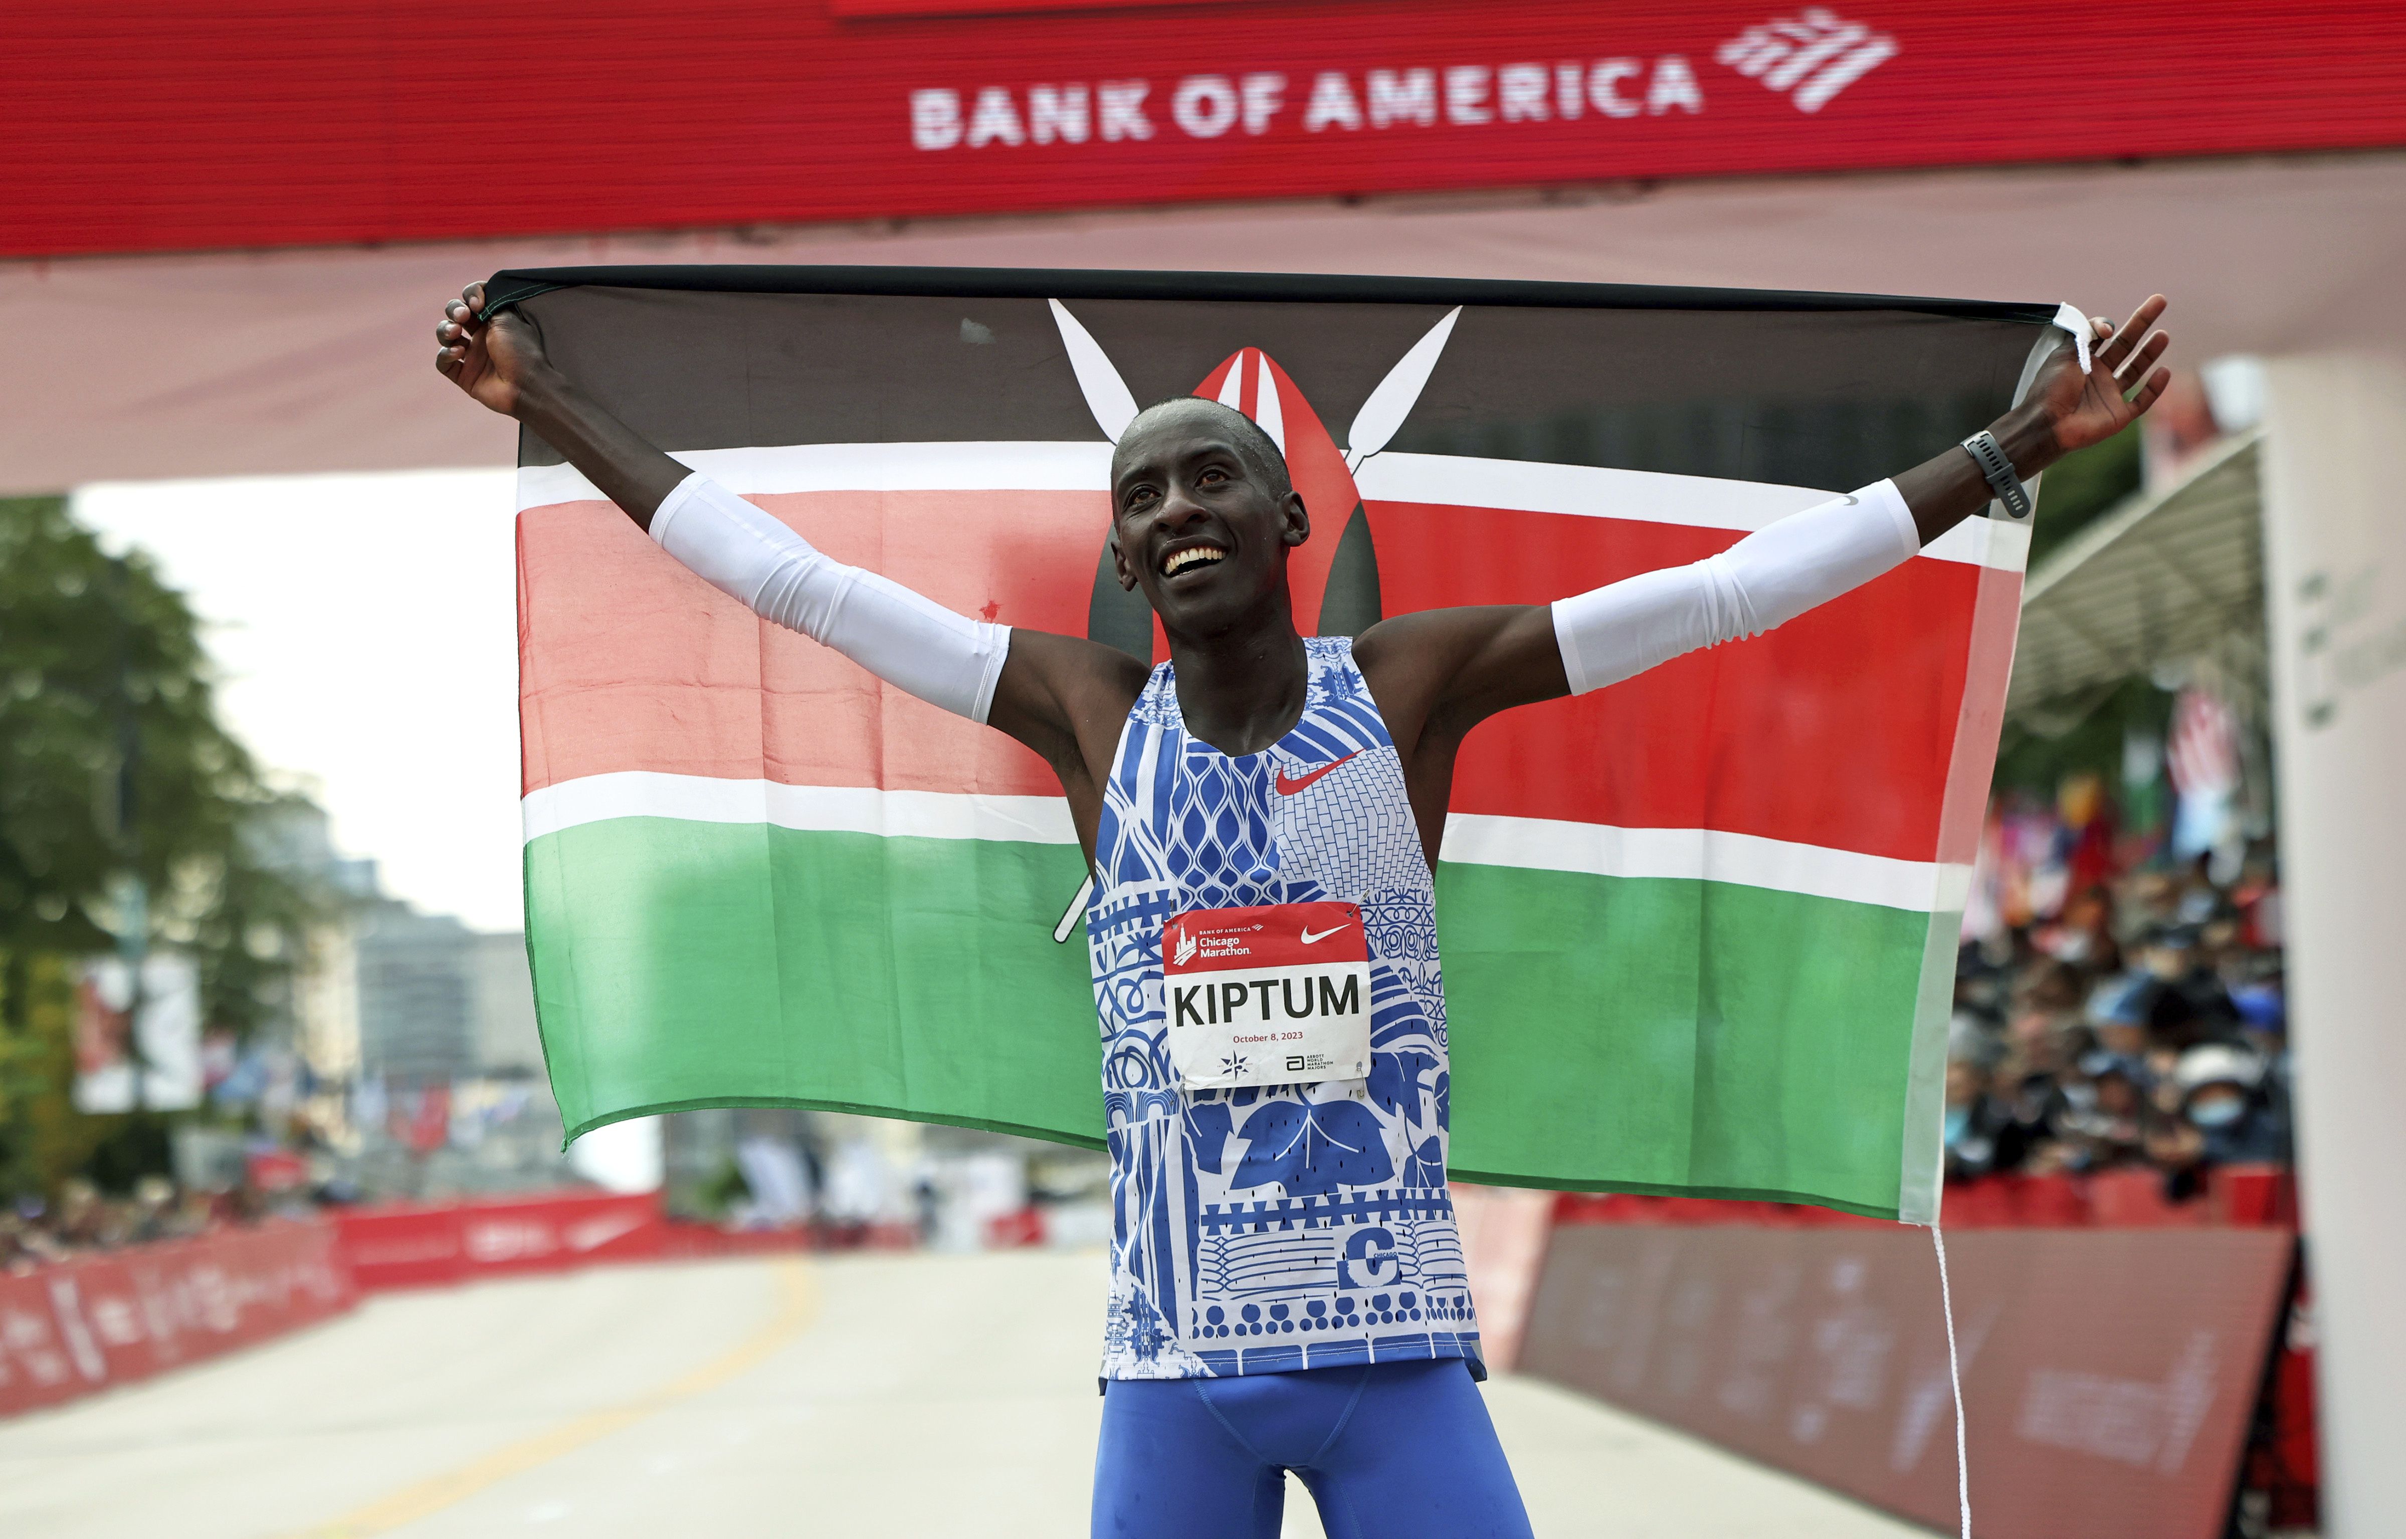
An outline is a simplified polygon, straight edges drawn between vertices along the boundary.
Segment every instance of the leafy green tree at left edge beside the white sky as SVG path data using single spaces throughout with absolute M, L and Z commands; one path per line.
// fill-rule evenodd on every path
M 75 1140 L 29 1133 L 67 1094 L 43 1000 L 60 959 L 115 950 L 130 892 L 147 945 L 195 955 L 212 1027 L 279 1008 L 332 911 L 255 837 L 291 801 L 217 719 L 200 625 L 149 560 L 63 498 L 0 500 L 0 1186 L 63 1173 L 34 1145 Z

